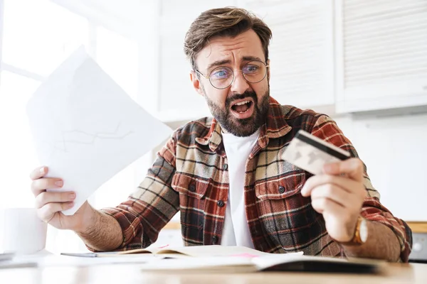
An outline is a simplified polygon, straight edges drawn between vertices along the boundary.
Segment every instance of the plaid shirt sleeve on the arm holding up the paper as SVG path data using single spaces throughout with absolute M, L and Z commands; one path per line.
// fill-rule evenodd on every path
M 172 189 L 175 173 L 176 137 L 167 141 L 135 192 L 117 207 L 103 208 L 122 228 L 117 250 L 146 248 L 179 210 L 179 195 Z

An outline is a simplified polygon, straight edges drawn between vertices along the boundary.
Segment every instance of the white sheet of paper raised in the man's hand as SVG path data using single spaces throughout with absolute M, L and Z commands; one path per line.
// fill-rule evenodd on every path
M 139 107 L 81 47 L 27 105 L 33 140 L 48 177 L 63 178 L 78 208 L 113 175 L 172 132 Z

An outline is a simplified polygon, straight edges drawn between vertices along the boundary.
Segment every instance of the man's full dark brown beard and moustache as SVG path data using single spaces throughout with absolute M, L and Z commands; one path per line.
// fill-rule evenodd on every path
M 214 116 L 216 121 L 221 124 L 221 127 L 226 132 L 231 133 L 234 136 L 245 137 L 251 136 L 265 123 L 269 106 L 268 101 L 270 98 L 270 88 L 268 88 L 263 97 L 261 97 L 259 103 L 258 97 L 253 91 L 246 91 L 243 94 L 233 94 L 232 96 L 227 97 L 225 109 L 212 102 L 211 99 L 206 96 L 206 93 L 204 97 L 206 98 L 206 102 L 211 110 L 211 114 Z M 248 97 L 253 99 L 253 114 L 247 119 L 237 119 L 233 114 L 231 114 L 231 103 L 236 99 L 246 99 Z

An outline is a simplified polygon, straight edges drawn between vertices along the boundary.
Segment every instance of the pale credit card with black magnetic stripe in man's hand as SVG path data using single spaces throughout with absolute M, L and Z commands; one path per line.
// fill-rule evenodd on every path
M 289 163 L 313 175 L 322 174 L 323 165 L 326 163 L 339 162 L 350 157 L 349 152 L 303 130 L 297 132 L 283 154 L 283 158 Z

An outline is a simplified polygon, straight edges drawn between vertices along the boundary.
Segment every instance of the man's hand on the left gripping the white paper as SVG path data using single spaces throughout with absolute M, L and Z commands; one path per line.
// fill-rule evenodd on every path
M 61 211 L 70 209 L 74 205 L 75 192 L 47 192 L 47 188 L 61 188 L 63 180 L 60 178 L 44 178 L 48 167 L 36 168 L 31 172 L 31 191 L 36 197 L 38 217 L 58 229 L 70 229 L 81 232 L 93 222 L 94 210 L 86 201 L 75 214 L 67 216 Z

